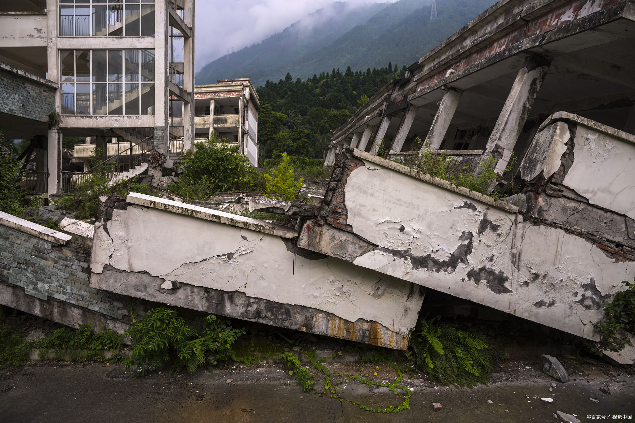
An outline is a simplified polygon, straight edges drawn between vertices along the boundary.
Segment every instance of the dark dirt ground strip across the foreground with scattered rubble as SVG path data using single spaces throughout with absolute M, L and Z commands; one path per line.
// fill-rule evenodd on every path
M 627 423 L 628 415 L 635 415 L 632 370 L 563 360 L 572 381 L 561 384 L 542 373 L 539 361 L 509 361 L 496 369 L 488 386 L 472 389 L 435 385 L 424 375 L 404 377 L 403 384 L 413 389 L 411 408 L 394 414 L 371 413 L 330 398 L 319 375 L 316 392 L 303 393 L 288 369 L 276 363 L 213 374 L 156 371 L 138 379 L 119 364 L 37 363 L 1 371 L 0 385 L 8 391 L 0 392 L 0 415 L 11 423 L 553 422 L 557 410 L 575 414 L 582 422 L 600 415 L 603 420 Z M 384 364 L 379 369 L 369 363 L 327 367 L 357 375 L 376 371 L 378 381 L 396 377 Z M 400 403 L 385 388 L 370 389 L 338 377 L 333 381 L 342 382 L 342 397 L 358 404 L 378 408 Z M 556 387 L 549 391 L 551 382 Z M 554 401 L 540 400 L 545 397 Z M 432 403 L 441 403 L 443 410 L 434 412 Z M 614 414 L 626 416 L 613 420 Z

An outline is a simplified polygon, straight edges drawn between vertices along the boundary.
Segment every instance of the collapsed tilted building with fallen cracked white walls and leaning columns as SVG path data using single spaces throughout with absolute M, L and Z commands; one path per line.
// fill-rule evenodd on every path
M 319 205 L 231 199 L 286 225 L 138 193 L 102 198 L 92 233 L 0 216 L 0 303 L 121 329 L 145 301 L 405 349 L 434 289 L 599 340 L 635 277 L 633 13 L 498 2 L 335 131 Z M 417 138 L 498 172 L 513 151 L 507 197 L 404 166 Z

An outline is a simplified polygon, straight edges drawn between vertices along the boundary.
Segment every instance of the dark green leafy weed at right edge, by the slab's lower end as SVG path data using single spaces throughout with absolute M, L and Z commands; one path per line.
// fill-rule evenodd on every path
M 622 283 L 626 285 L 626 289 L 618 291 L 613 301 L 606 302 L 604 316 L 595 325 L 596 330 L 602 334 L 602 340 L 584 340 L 587 348 L 600 356 L 602 351 L 622 351 L 629 344 L 624 332 L 635 334 L 635 283 Z

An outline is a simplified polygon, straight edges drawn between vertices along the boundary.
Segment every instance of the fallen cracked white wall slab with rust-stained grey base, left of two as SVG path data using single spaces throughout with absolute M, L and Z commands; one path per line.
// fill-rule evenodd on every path
M 291 239 L 121 200 L 95 226 L 91 286 L 407 348 L 425 292 L 417 285 Z

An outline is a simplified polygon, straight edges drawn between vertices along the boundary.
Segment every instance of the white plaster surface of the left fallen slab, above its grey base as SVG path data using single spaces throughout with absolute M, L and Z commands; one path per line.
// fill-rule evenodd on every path
M 422 299 L 408 299 L 410 282 L 335 257 L 294 257 L 275 235 L 140 205 L 114 210 L 107 228 L 112 240 L 100 225 L 95 233 L 91 266 L 99 272 L 110 264 L 123 271 L 147 272 L 170 286 L 180 282 L 241 291 L 320 309 L 351 322 L 378 322 L 402 335 L 417 322 Z M 168 282 L 161 287 L 171 289 Z M 385 290 L 379 297 L 373 288 L 377 283 Z

